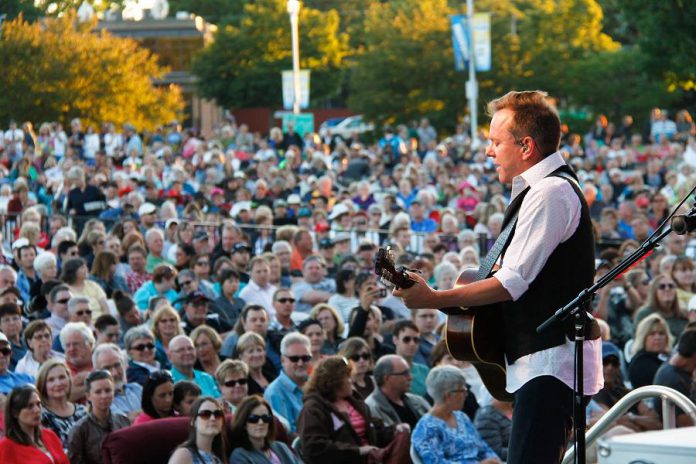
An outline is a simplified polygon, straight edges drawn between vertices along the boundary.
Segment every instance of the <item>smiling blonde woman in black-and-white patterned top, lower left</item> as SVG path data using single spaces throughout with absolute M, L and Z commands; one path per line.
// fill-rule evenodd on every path
M 60 359 L 49 359 L 39 369 L 36 387 L 43 406 L 41 424 L 58 435 L 63 448 L 67 450 L 70 430 L 87 415 L 87 408 L 84 405 L 70 401 L 72 390 L 70 369 Z

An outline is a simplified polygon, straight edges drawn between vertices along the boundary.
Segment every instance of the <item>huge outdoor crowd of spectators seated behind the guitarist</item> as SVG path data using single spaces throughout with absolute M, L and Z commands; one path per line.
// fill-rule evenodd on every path
M 696 128 L 655 109 L 644 127 L 600 116 L 564 131 L 601 277 L 696 186 Z M 103 462 L 109 434 L 177 416 L 190 420 L 174 463 L 505 461 L 513 405 L 449 354 L 443 314 L 408 309 L 374 274 L 388 245 L 452 288 L 495 242 L 510 191 L 486 131 L 468 133 L 11 122 L 0 461 Z M 696 239 L 670 234 L 598 293 L 590 423 L 631 388 L 696 397 L 694 259 Z M 659 428 L 660 408 L 641 403 L 621 433 Z

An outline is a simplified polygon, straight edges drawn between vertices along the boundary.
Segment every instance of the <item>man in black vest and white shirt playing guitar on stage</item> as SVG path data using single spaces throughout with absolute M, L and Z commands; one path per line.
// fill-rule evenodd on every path
M 560 119 L 546 93 L 509 92 L 490 102 L 488 113 L 486 155 L 500 181 L 512 184 L 503 227 L 518 211 L 497 272 L 442 291 L 409 273 L 416 284 L 394 295 L 412 309 L 502 305 L 506 389 L 515 395 L 507 462 L 558 463 L 573 424 L 572 330 L 557 324 L 537 334 L 536 327 L 592 284 L 592 224 L 575 175 L 558 151 Z M 585 395 L 602 387 L 601 352 L 601 340 L 585 341 Z

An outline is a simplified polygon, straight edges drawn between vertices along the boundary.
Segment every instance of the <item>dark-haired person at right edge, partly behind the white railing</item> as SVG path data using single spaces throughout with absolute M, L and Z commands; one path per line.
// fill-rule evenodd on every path
M 664 363 L 655 374 L 655 385 L 664 385 L 693 398 L 694 373 L 696 373 L 696 330 L 689 329 L 679 337 L 677 351 L 668 362 Z M 662 414 L 662 401 L 655 400 L 655 409 Z M 696 425 L 688 414 L 677 408 L 677 426 L 688 427 Z

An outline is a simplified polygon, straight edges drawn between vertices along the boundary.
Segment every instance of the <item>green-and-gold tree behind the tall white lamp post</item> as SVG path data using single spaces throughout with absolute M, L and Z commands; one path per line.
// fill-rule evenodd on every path
M 312 106 L 339 95 L 346 52 L 335 11 L 300 10 L 300 66 L 312 72 Z M 292 69 L 292 50 L 285 0 L 247 4 L 239 25 L 219 29 L 193 64 L 201 94 L 237 108 L 280 105 L 286 69 Z

